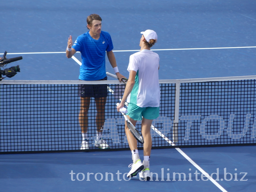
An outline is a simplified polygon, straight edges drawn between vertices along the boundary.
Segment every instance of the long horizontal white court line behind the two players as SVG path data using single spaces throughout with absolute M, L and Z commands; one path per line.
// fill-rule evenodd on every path
M 212 48 L 184 48 L 184 49 L 151 49 L 151 51 L 176 51 L 176 50 L 207 50 L 207 49 L 240 49 L 240 48 L 256 48 L 256 46 L 251 47 L 212 47 Z M 119 50 L 113 52 L 133 52 L 140 50 Z M 18 55 L 18 54 L 53 54 L 53 53 L 66 53 L 66 52 L 25 52 L 25 53 L 7 53 L 7 55 Z M 0 53 L 4 54 L 4 53 Z

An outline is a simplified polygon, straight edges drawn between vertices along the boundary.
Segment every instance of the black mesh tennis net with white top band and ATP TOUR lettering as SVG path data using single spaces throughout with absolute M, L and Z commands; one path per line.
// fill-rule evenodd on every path
M 160 115 L 152 123 L 152 148 L 256 144 L 255 79 L 159 80 Z M 108 85 L 102 138 L 108 150 L 129 149 L 124 118 L 116 110 L 124 91 L 119 81 L 6 80 L 0 81 L 0 153 L 81 151 L 80 84 Z M 92 98 L 89 151 L 99 150 L 94 145 L 96 114 Z

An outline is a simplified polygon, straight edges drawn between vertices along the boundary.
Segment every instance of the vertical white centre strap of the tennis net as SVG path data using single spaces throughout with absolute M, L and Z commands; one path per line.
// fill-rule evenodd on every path
M 176 80 L 175 84 L 175 109 L 174 109 L 174 122 L 172 132 L 172 142 L 178 142 L 178 123 L 179 123 L 179 109 L 180 109 L 180 80 Z

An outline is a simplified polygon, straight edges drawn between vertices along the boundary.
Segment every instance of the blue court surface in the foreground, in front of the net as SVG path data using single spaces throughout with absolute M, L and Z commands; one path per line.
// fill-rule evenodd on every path
M 182 151 L 218 178 L 222 191 L 254 191 L 254 146 Z M 129 151 L 1 155 L 1 191 L 221 191 L 174 148 L 152 150 L 152 181 L 124 177 L 130 158 Z

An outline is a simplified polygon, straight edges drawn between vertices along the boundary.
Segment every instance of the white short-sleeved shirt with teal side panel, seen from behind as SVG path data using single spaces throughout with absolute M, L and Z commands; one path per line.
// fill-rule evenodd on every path
M 139 107 L 159 107 L 160 87 L 158 78 L 159 56 L 143 49 L 130 56 L 127 70 L 136 71 L 135 84 L 127 98 L 128 103 Z

